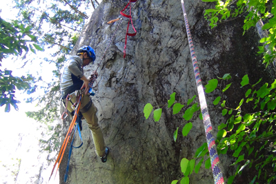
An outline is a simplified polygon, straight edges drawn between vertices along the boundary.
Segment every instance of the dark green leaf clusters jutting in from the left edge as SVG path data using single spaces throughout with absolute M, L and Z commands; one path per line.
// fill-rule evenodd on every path
M 1 19 L 0 17 L 0 62 L 7 58 L 9 55 L 24 56 L 29 50 L 35 52 L 32 48 L 34 46 L 37 50 L 42 50 L 37 43 L 37 37 L 33 36 L 32 28 L 26 27 L 19 21 L 12 21 L 11 23 Z M 1 63 L 0 63 L 1 66 Z M 0 70 L 0 106 L 6 105 L 5 112 L 10 112 L 10 105 L 18 110 L 17 103 L 15 100 L 16 90 L 28 90 L 28 93 L 34 92 L 34 86 L 30 84 L 34 78 L 28 74 L 25 76 L 12 76 L 11 70 Z

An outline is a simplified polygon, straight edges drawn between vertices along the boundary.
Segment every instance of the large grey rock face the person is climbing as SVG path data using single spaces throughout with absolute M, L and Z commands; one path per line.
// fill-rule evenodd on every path
M 82 45 L 95 48 L 96 64 L 85 68 L 86 76 L 97 68 L 120 24 L 120 21 L 112 25 L 106 22 L 117 19 L 127 3 L 103 1 L 83 28 L 72 54 Z M 242 19 L 221 23 L 211 30 L 204 19 L 204 9 L 212 6 L 201 0 L 185 1 L 204 85 L 226 73 L 233 76 L 232 89 L 245 74 L 254 82 L 261 76 L 269 81 L 269 72 L 263 72 L 261 57 L 256 56 L 257 32 L 252 29 L 242 36 Z M 181 159 L 192 159 L 197 148 L 206 142 L 204 126 L 198 116 L 193 117 L 193 128 L 185 138 L 181 136 L 181 128 L 188 122 L 181 114 L 172 115 L 171 109 L 163 108 L 159 122 L 155 122 L 152 115 L 148 120 L 144 118 L 146 103 L 166 105 L 170 94 L 176 92 L 177 102 L 184 104 L 197 94 L 181 1 L 137 1 L 131 13 L 137 35 L 128 37 L 126 59 L 123 50 L 128 20 L 124 18 L 99 65 L 99 86 L 92 97 L 106 145 L 110 147 L 108 161 L 101 163 L 97 157 L 90 130 L 83 121 L 83 146 L 72 152 L 66 183 L 171 183 L 183 176 Z M 216 93 L 206 94 L 208 104 Z M 229 90 L 226 96 L 233 99 L 233 104 L 229 105 L 235 105 L 240 94 Z M 209 113 L 216 134 L 217 125 L 225 119 L 219 111 L 209 109 Z M 63 134 L 66 134 L 69 121 L 63 125 Z M 175 143 L 173 132 L 177 127 L 179 138 Z M 66 154 L 59 170 L 60 183 L 64 183 L 68 152 Z M 220 161 L 226 179 L 233 174 L 226 167 L 231 161 L 227 156 Z M 214 183 L 212 171 L 204 169 L 192 174 L 190 183 Z

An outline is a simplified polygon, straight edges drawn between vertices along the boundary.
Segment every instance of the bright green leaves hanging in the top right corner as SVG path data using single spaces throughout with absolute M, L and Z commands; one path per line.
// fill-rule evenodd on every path
M 276 1 L 264 0 L 202 0 L 204 2 L 216 2 L 214 9 L 205 10 L 204 17 L 210 22 L 211 28 L 217 26 L 218 22 L 231 21 L 237 17 L 244 17 L 244 32 L 254 27 L 258 21 L 268 21 L 262 30 L 268 30 L 268 37 L 264 37 L 259 42 L 259 54 L 264 54 L 266 67 L 276 58 L 275 36 L 276 36 Z M 272 8 L 268 8 L 271 5 Z M 268 50 L 268 52 L 266 52 Z

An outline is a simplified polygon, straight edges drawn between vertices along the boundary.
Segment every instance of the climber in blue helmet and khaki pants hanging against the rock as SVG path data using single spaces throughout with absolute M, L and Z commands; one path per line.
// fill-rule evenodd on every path
M 83 75 L 83 67 L 94 63 L 96 55 L 94 50 L 90 46 L 83 46 L 77 51 L 77 56 L 71 56 L 66 62 L 61 74 L 61 97 L 64 101 L 68 94 L 74 93 L 76 90 L 83 90 L 83 97 L 81 99 L 81 114 L 88 123 L 88 127 L 92 131 L 92 137 L 95 144 L 96 153 L 101 157 L 101 161 L 105 163 L 109 149 L 106 147 L 101 128 L 98 124 L 96 116 L 97 108 L 90 99 L 89 80 Z M 72 103 L 76 102 L 76 97 L 68 101 L 67 109 L 69 112 L 73 112 Z M 65 107 L 65 106 L 64 106 Z

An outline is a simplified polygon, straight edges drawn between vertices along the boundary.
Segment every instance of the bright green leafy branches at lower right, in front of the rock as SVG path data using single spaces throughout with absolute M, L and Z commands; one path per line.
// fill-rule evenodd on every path
M 228 74 L 227 77 L 218 77 L 218 79 L 228 81 L 231 77 Z M 261 87 L 257 88 L 257 84 L 261 80 L 255 84 L 250 84 L 248 75 L 242 78 L 241 88 L 248 88 L 248 90 L 246 90 L 244 99 L 235 108 L 228 107 L 226 99 L 223 99 L 225 92 L 224 85 L 228 86 L 227 83 L 222 85 L 219 82 L 220 85 L 216 84 L 216 88 L 206 85 L 206 89 L 218 89 L 221 92 L 221 95 L 215 99 L 213 105 L 221 110 L 222 115 L 226 116 L 227 114 L 228 116 L 226 123 L 219 125 L 219 132 L 217 132 L 217 139 L 215 141 L 217 143 L 218 154 L 231 154 L 233 159 L 235 159 L 235 162 L 229 165 L 229 167 L 235 166 L 236 172 L 228 178 L 228 183 L 233 183 L 235 177 L 242 175 L 244 170 L 252 174 L 249 176 L 247 174 L 245 177 L 252 176 L 250 178 L 252 180 L 251 183 L 275 183 L 276 181 L 276 80 L 270 85 L 264 83 Z M 213 81 L 215 80 L 212 79 L 208 83 L 213 83 Z M 222 101 L 219 105 L 221 99 Z M 168 102 L 171 103 L 171 101 Z M 244 109 L 249 109 L 250 111 L 246 112 Z M 194 103 L 192 107 L 185 110 L 184 119 L 186 121 L 190 120 L 197 110 L 199 110 L 197 103 Z M 183 136 L 187 136 L 192 127 L 193 123 L 186 123 L 182 129 Z M 179 127 L 177 127 L 174 133 L 174 141 L 177 140 L 178 130 Z M 198 173 L 202 163 L 204 163 L 207 170 L 210 169 L 211 163 L 207 143 L 204 143 L 197 149 L 193 159 L 188 160 L 184 158 L 181 160 L 181 172 L 184 176 L 178 181 L 180 183 L 189 183 L 188 176 L 193 171 Z M 178 181 L 175 180 L 172 183 L 177 183 Z

